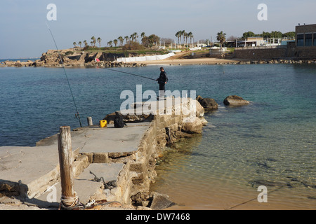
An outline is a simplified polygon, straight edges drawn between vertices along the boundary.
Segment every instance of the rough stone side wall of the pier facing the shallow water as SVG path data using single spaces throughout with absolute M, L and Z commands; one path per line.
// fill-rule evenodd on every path
M 189 105 L 188 113 L 183 113 L 181 106 Z M 195 111 L 194 105 L 197 110 Z M 167 110 L 164 109 L 165 111 Z M 148 193 L 150 183 L 156 179 L 156 158 L 162 154 L 166 144 L 178 141 L 182 137 L 190 137 L 192 133 L 201 133 L 204 125 L 204 109 L 196 100 L 189 99 L 187 103 L 173 105 L 169 115 L 154 115 L 148 130 L 140 141 L 138 151 L 132 160 L 126 162 L 124 170 L 119 174 L 118 189 L 114 192 L 113 199 L 124 204 L 131 204 L 131 197 L 139 193 Z M 176 111 L 180 110 L 180 114 Z M 161 111 L 161 110 L 160 110 Z M 192 117 L 192 113 L 195 113 Z M 192 123 L 186 119 L 191 118 Z

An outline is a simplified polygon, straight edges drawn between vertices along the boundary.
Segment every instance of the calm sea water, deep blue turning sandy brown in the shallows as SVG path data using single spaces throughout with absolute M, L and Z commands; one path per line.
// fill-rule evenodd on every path
M 116 68 L 148 78 L 159 65 Z M 316 209 L 315 64 L 165 65 L 167 90 L 213 98 L 202 134 L 167 146 L 152 191 L 170 209 Z M 119 110 L 121 92 L 153 80 L 104 68 L 0 68 L 0 146 L 35 146 L 59 127 Z M 251 103 L 225 106 L 238 95 Z M 0 148 L 1 150 L 1 148 Z M 1 177 L 0 177 L 1 178 Z

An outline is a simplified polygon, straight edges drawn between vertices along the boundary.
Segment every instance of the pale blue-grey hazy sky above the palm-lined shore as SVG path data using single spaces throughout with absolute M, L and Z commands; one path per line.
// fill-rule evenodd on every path
M 48 4 L 56 6 L 56 20 Z M 258 20 L 260 3 L 267 6 L 267 19 Z M 295 31 L 298 23 L 315 24 L 315 0 L 6 0 L 0 4 L 0 59 L 41 57 L 55 49 L 51 28 L 59 49 L 74 42 L 88 43 L 100 37 L 101 46 L 119 36 L 156 34 L 176 41 L 176 32 L 192 32 L 195 41 L 240 37 L 246 31 Z

